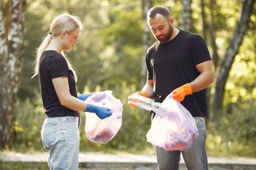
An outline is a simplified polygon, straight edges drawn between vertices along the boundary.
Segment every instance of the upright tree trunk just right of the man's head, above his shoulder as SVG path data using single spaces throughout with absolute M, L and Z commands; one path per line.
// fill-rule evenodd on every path
M 180 29 L 191 31 L 191 0 L 182 0 L 182 5 L 182 24 L 180 25 Z

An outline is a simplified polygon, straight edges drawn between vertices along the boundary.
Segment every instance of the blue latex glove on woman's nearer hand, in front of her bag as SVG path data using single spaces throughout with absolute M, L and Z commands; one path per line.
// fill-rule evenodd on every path
M 99 107 L 93 104 L 87 104 L 85 112 L 96 113 L 100 119 L 105 119 L 106 117 L 110 117 L 112 115 L 112 110 L 110 108 Z

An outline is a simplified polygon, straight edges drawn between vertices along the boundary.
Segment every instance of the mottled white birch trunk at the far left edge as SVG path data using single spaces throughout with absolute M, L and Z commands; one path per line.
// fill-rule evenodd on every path
M 26 0 L 11 1 L 10 16 L 6 16 L 10 18 L 9 30 L 5 30 L 4 16 L 0 10 L 0 148 L 12 144 L 13 111 L 18 98 L 24 53 L 25 6 Z

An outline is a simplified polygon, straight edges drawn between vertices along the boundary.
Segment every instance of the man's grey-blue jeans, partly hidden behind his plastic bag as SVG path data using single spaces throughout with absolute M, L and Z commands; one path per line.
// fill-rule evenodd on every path
M 188 170 L 208 170 L 205 140 L 207 137 L 203 117 L 194 117 L 199 135 L 187 150 L 168 151 L 162 147 L 155 146 L 157 164 L 159 170 L 179 170 L 180 152 Z

